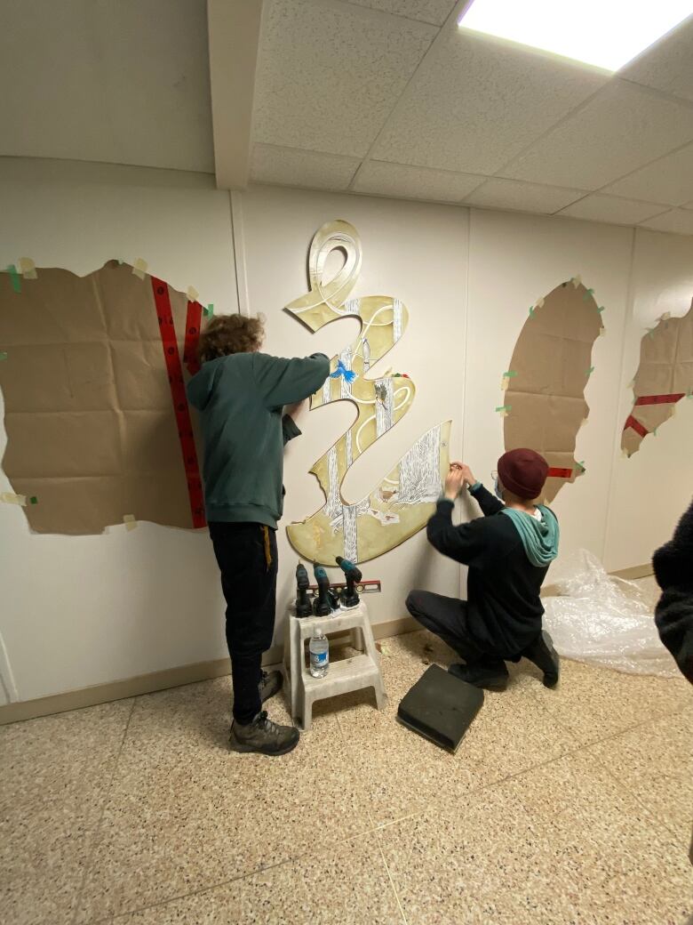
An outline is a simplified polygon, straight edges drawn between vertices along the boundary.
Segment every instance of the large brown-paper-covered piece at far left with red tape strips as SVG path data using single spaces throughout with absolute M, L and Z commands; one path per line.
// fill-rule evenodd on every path
M 205 524 L 181 364 L 201 312 L 116 260 L 0 274 L 3 469 L 32 530 Z

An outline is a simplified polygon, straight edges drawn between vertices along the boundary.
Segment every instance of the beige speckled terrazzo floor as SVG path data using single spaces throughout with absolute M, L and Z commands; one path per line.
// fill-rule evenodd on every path
M 386 640 L 387 708 L 322 702 L 284 759 L 226 750 L 228 678 L 0 728 L 0 921 L 683 925 L 693 689 L 523 662 L 453 757 L 395 722 L 450 657 Z

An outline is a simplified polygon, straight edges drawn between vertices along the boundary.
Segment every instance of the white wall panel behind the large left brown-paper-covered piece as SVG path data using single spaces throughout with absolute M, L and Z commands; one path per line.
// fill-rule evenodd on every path
M 113 257 L 143 257 L 217 312 L 237 309 L 228 196 L 209 178 L 3 159 L 0 202 L 3 266 L 30 256 L 85 275 Z M 0 455 L 5 443 L 2 427 Z M 2 504 L 0 549 L 0 632 L 20 699 L 225 655 L 204 533 L 139 524 L 31 535 L 23 512 Z

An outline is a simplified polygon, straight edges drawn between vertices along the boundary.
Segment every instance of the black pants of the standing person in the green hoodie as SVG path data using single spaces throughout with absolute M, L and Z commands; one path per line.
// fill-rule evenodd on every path
M 247 725 L 261 710 L 262 653 L 272 646 L 276 599 L 276 531 L 263 524 L 210 524 L 226 600 L 234 719 Z

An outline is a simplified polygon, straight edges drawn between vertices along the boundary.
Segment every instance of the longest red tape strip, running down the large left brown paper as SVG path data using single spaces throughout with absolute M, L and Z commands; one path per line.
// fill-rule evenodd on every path
M 152 277 L 152 290 L 156 314 L 159 319 L 159 333 L 164 348 L 164 360 L 168 373 L 168 383 L 171 388 L 171 401 L 176 413 L 176 425 L 180 438 L 180 451 L 183 455 L 186 479 L 188 481 L 188 495 L 190 498 L 190 512 L 192 512 L 192 525 L 204 526 L 207 521 L 204 516 L 204 499 L 202 495 L 202 482 L 198 453 L 195 449 L 195 438 L 192 436 L 192 422 L 188 408 L 188 396 L 183 381 L 183 366 L 180 363 L 178 342 L 176 340 L 176 327 L 171 311 L 171 300 L 168 297 L 168 286 L 163 279 Z M 196 304 L 193 302 L 192 304 Z M 201 306 L 200 306 L 201 307 Z M 188 303 L 188 318 L 190 304 Z M 199 329 L 199 325 L 197 326 Z M 188 335 L 186 334 L 186 338 Z

